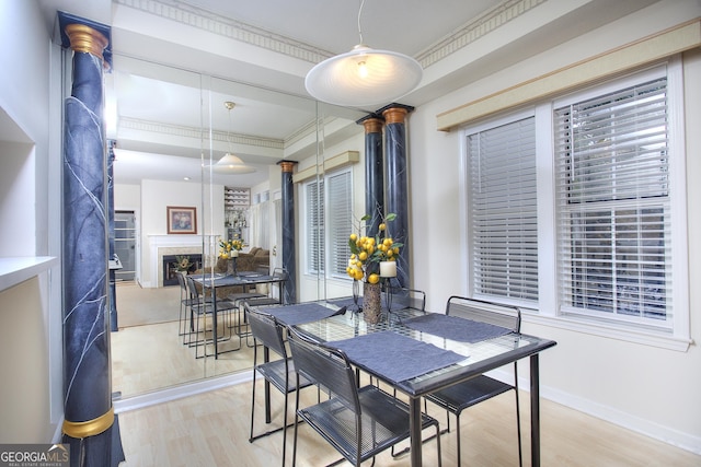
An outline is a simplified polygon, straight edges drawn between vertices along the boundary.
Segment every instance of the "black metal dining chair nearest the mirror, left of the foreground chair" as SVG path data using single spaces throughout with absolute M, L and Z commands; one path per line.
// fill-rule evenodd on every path
M 283 431 L 283 466 L 285 466 L 285 454 L 287 452 L 287 408 L 288 396 L 295 390 L 311 386 L 307 378 L 301 378 L 299 383 L 295 380 L 295 365 L 287 353 L 285 340 L 283 338 L 283 326 L 275 317 L 263 312 L 251 310 L 244 304 L 245 315 L 253 336 L 253 389 L 251 392 L 251 435 L 249 442 L 269 434 Z M 263 347 L 263 362 L 258 363 L 258 348 Z M 273 351 L 278 359 L 271 361 L 269 351 Z M 265 381 L 265 423 L 271 423 L 269 385 L 272 384 L 285 396 L 284 424 L 277 429 L 268 430 L 264 433 L 253 434 L 255 420 L 255 378 L 260 374 Z

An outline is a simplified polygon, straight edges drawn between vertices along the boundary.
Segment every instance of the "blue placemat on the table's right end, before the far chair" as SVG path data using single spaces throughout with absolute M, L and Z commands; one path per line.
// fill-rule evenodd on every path
M 494 337 L 504 336 L 510 332 L 509 329 L 479 323 L 472 319 L 459 318 L 457 316 L 428 313 L 424 316 L 411 318 L 404 322 L 404 326 L 410 329 L 428 332 L 434 336 L 444 337 L 459 342 L 480 342 Z

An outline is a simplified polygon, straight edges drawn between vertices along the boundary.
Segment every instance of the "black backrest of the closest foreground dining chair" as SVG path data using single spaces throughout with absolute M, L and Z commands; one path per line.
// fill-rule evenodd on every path
M 288 328 L 288 342 L 297 372 L 307 380 L 326 388 L 345 407 L 360 413 L 355 370 L 340 349 L 314 341 L 296 328 Z

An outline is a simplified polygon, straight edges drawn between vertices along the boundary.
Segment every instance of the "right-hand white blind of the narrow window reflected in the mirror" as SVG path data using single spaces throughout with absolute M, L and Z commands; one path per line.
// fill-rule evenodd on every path
M 346 276 L 346 267 L 350 257 L 348 236 L 353 227 L 353 194 L 350 171 L 343 171 L 326 178 L 329 200 L 329 270 L 332 275 Z

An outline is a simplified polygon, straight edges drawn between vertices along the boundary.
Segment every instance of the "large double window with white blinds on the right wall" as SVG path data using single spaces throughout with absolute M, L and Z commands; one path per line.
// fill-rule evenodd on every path
M 688 339 L 681 103 L 673 61 L 466 129 L 470 293 Z

